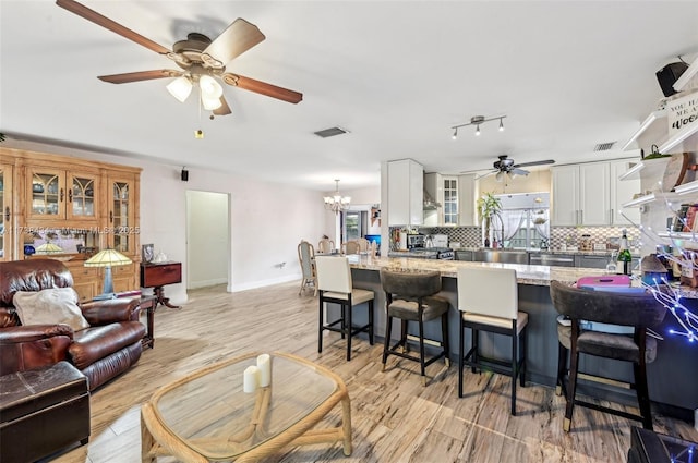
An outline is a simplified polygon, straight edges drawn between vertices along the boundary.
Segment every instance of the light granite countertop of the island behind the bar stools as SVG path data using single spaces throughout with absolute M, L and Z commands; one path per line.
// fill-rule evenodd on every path
M 522 284 L 549 287 L 552 280 L 574 283 L 580 277 L 605 275 L 604 269 L 549 267 L 538 265 L 469 263 L 462 260 L 420 259 L 410 257 L 350 256 L 351 267 L 364 270 L 406 268 L 416 270 L 437 270 L 443 277 L 456 278 L 458 267 L 496 267 L 516 269 L 517 280 Z

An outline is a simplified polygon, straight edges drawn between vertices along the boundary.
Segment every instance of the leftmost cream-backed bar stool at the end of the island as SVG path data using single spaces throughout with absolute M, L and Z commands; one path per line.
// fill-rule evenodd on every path
M 347 339 L 347 361 L 351 360 L 351 338 L 361 332 L 369 334 L 369 344 L 373 345 L 373 291 L 353 288 L 349 258 L 345 256 L 316 256 L 317 289 L 320 290 L 320 330 L 317 352 L 323 352 L 323 331 L 335 331 Z M 339 318 L 325 321 L 325 304 L 334 303 L 340 306 Z M 368 324 L 354 326 L 352 321 L 353 307 L 366 304 Z

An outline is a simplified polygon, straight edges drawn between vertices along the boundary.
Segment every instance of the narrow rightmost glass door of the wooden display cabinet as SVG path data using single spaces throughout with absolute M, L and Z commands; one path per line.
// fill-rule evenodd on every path
M 134 182 L 132 180 L 110 180 L 111 198 L 109 221 L 113 229 L 111 234 L 111 247 L 120 253 L 134 254 L 135 234 L 139 230 L 134 227 Z

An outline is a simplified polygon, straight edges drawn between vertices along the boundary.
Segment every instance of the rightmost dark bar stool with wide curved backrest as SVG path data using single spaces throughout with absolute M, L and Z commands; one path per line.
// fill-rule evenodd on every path
M 561 345 L 567 343 L 569 333 L 569 374 L 568 385 L 564 388 L 567 350 L 559 350 L 558 387 L 566 390 L 566 407 L 563 429 L 569 432 L 575 405 L 642 423 L 646 429 L 652 429 L 652 413 L 647 386 L 647 363 L 654 360 L 657 340 L 647 336 L 648 328 L 658 327 L 666 315 L 666 308 L 651 293 L 624 294 L 590 289 L 574 288 L 559 281 L 552 281 L 550 294 L 557 310 L 569 322 L 568 331 L 558 330 Z M 582 321 L 630 327 L 631 333 L 612 333 L 582 328 Z M 561 332 L 562 331 L 562 332 Z M 585 379 L 601 380 L 606 386 L 617 383 L 630 387 L 637 392 L 639 415 L 610 406 L 577 399 L 579 354 L 611 358 L 633 364 L 633 382 L 616 378 L 583 375 Z M 649 354 L 649 355 L 648 355 Z

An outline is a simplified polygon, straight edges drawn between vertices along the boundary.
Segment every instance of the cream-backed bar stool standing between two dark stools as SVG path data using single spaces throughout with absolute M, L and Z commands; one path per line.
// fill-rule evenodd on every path
M 526 331 L 528 314 L 518 309 L 516 270 L 508 268 L 458 268 L 458 309 L 460 314 L 458 397 L 462 398 L 462 370 L 491 369 L 512 378 L 512 415 L 516 415 L 516 379 L 525 386 Z M 471 348 L 465 352 L 465 330 L 472 332 Z M 480 352 L 480 331 L 510 338 L 512 355 L 505 361 Z M 492 340 L 494 342 L 494 339 Z M 519 346 L 520 344 L 520 346 Z

